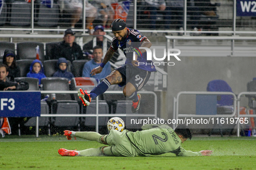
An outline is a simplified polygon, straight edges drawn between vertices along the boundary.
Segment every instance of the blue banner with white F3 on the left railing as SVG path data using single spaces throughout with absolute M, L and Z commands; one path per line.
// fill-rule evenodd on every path
M 0 117 L 33 117 L 40 114 L 40 92 L 0 92 Z

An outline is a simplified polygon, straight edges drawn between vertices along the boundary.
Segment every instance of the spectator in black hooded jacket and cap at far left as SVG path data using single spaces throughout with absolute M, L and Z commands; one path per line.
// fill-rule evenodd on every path
M 19 66 L 16 65 L 16 55 L 13 50 L 6 49 L 3 53 L 3 64 L 9 67 L 8 77 L 13 81 L 14 78 L 20 77 Z

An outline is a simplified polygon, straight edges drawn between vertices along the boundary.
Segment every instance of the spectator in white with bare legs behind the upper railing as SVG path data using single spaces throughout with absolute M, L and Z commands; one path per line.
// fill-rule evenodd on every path
M 79 21 L 81 14 L 83 12 L 82 0 L 58 0 L 60 4 L 60 9 L 64 13 L 71 14 L 71 28 L 75 28 L 75 24 Z M 90 23 L 93 22 L 97 16 L 97 9 L 88 2 L 85 1 L 85 16 L 86 16 L 86 28 L 89 28 Z

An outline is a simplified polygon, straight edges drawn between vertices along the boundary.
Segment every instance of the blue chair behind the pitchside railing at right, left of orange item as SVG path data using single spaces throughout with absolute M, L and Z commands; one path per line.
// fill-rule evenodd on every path
M 207 85 L 207 91 L 224 91 L 224 92 L 232 92 L 231 87 L 224 80 L 212 80 Z M 232 95 L 217 95 L 217 114 L 232 114 L 233 113 L 233 96 Z M 219 117 L 220 119 L 220 117 Z M 223 136 L 223 128 L 226 125 L 222 125 L 221 123 L 214 123 L 213 129 L 220 129 L 220 135 Z M 232 125 L 233 128 L 235 126 Z M 213 129 L 209 135 L 212 134 Z M 233 129 L 230 131 L 230 135 L 233 132 Z

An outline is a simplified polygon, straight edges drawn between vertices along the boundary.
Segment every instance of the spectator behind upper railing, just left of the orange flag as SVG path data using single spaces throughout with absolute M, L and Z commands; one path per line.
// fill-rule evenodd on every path
M 111 23 L 114 20 L 115 13 L 113 7 L 111 6 L 110 0 L 93 0 L 92 4 L 97 6 L 97 11 L 101 14 L 101 18 L 103 19 L 103 27 L 110 28 Z

